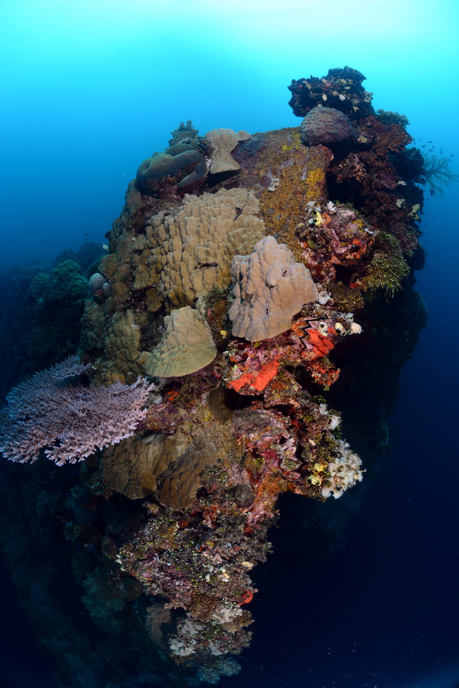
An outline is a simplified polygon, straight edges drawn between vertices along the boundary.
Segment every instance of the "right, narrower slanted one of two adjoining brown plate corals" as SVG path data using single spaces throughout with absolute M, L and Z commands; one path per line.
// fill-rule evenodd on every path
M 191 506 L 204 484 L 204 469 L 215 463 L 215 457 L 216 449 L 212 442 L 202 435 L 195 438 L 164 475 L 158 491 L 161 504 L 173 509 Z

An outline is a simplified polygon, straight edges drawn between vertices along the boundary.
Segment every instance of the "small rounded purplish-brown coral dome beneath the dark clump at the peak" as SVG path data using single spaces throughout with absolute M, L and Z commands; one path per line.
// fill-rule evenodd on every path
M 348 116 L 334 107 L 313 107 L 301 122 L 299 134 L 305 146 L 318 143 L 329 146 L 356 138 L 356 131 Z

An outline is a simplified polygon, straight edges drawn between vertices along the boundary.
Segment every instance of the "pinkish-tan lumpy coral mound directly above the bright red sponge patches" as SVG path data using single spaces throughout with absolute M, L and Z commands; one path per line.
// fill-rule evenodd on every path
M 308 268 L 274 237 L 259 241 L 249 256 L 236 255 L 231 274 L 233 336 L 250 342 L 286 332 L 303 305 L 319 299 Z

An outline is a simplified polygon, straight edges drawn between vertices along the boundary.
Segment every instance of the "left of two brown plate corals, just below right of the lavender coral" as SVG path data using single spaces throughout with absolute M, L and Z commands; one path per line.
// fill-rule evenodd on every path
M 129 499 L 142 499 L 156 490 L 158 476 L 183 450 L 183 444 L 162 433 L 129 437 L 104 449 L 96 480 Z

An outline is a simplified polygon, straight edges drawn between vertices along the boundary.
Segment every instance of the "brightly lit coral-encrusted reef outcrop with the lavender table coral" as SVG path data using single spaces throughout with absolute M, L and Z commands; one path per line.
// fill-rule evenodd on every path
M 137 627 L 198 680 L 238 670 L 229 655 L 250 639 L 249 572 L 279 493 L 337 498 L 362 480 L 319 394 L 339 378 L 334 347 L 361 334 L 367 296 L 392 297 L 409 274 L 423 206 L 406 122 L 376 114 L 363 80 L 345 67 L 293 81 L 300 127 L 173 131 L 108 235 L 83 367 L 69 363 L 58 385 L 47 376 L 47 428 L 43 374 L 3 411 L 8 458 L 42 446 L 59 463 L 85 458 L 80 489 L 105 523 L 83 577 L 94 623 L 109 625 L 107 600 L 124 609 L 114 581 L 131 577 Z M 119 494 L 125 521 L 110 506 Z

